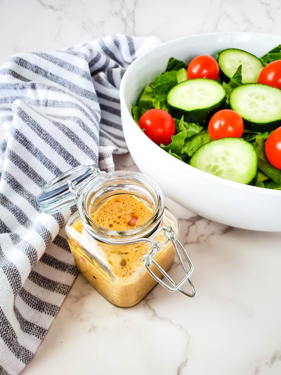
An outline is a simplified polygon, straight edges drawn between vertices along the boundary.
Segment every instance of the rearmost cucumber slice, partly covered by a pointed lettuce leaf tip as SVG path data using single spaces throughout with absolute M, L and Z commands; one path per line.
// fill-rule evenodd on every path
M 220 77 L 229 82 L 239 65 L 242 65 L 242 83 L 257 83 L 259 74 L 264 68 L 259 58 L 242 49 L 224 49 L 218 55 Z

